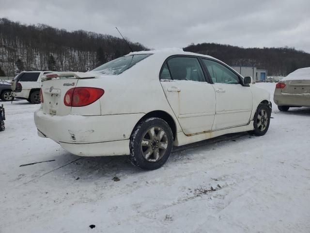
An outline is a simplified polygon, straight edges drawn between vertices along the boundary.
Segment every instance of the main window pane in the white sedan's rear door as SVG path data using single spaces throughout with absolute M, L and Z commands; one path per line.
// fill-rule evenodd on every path
M 168 66 L 173 80 L 205 82 L 202 67 L 195 57 L 173 57 Z

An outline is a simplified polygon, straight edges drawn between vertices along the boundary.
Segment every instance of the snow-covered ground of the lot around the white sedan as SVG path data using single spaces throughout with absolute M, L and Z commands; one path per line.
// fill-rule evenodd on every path
M 72 155 L 37 136 L 39 105 L 4 104 L 1 233 L 310 232 L 310 108 L 283 113 L 273 103 L 266 135 L 178 148 L 164 167 L 143 171 L 125 156 Z

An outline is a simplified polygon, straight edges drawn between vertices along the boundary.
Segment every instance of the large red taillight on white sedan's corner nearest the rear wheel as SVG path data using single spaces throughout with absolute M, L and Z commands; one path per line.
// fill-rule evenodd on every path
M 69 89 L 63 98 L 66 106 L 82 107 L 98 100 L 105 93 L 103 89 L 95 87 L 75 87 Z

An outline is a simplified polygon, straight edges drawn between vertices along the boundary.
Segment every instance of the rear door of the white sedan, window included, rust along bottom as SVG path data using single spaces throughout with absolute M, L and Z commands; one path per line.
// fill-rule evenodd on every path
M 174 56 L 165 62 L 160 83 L 186 135 L 211 131 L 215 116 L 215 91 L 206 82 L 200 61 Z

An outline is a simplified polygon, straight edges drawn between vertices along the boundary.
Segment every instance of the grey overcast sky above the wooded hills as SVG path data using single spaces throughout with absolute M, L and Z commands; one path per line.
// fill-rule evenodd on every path
M 215 42 L 310 52 L 310 0 L 0 0 L 0 17 L 154 48 Z

